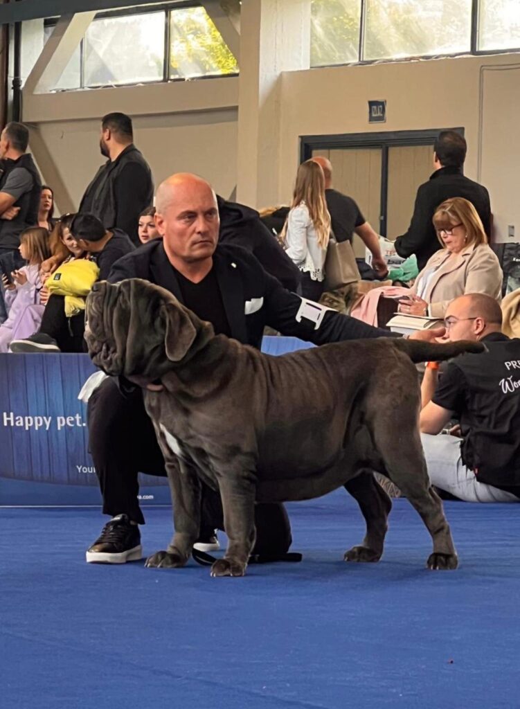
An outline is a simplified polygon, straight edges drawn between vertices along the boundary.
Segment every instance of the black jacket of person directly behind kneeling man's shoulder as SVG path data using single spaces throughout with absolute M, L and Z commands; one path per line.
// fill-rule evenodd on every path
M 255 209 L 216 197 L 220 217 L 219 244 L 242 246 L 255 256 L 268 274 L 288 291 L 296 291 L 301 272 L 284 252 Z

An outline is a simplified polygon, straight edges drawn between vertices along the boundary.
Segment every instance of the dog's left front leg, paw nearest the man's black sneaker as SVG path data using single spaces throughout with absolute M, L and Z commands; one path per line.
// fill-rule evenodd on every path
M 184 566 L 200 529 L 201 483 L 192 465 L 170 454 L 166 460 L 172 494 L 175 534 L 167 551 L 155 552 L 145 566 L 175 569 Z

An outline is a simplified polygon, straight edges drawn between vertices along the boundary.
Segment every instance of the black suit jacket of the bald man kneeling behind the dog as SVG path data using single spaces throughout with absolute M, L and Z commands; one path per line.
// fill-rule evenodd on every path
M 260 348 L 265 325 L 283 335 L 299 337 L 316 345 L 363 337 L 395 337 L 387 330 L 372 328 L 336 311 L 327 311 L 317 303 L 316 313 L 325 312 L 316 327 L 316 322 L 301 312 L 302 298 L 284 289 L 242 247 L 218 245 L 214 253 L 214 269 L 231 335 L 245 345 Z M 126 278 L 142 278 L 155 283 L 182 302 L 176 272 L 167 258 L 162 239 L 153 239 L 114 264 L 108 280 L 117 283 Z

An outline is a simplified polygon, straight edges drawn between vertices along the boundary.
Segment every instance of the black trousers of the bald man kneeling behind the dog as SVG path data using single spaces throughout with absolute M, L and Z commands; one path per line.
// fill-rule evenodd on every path
M 138 503 L 138 473 L 166 476 L 153 423 L 140 390 L 123 396 L 114 379 L 106 379 L 89 400 L 89 450 L 103 496 L 103 512 L 126 514 L 144 524 Z M 284 554 L 292 544 L 291 527 L 282 504 L 255 506 L 255 554 Z M 202 486 L 201 535 L 223 530 L 221 498 Z

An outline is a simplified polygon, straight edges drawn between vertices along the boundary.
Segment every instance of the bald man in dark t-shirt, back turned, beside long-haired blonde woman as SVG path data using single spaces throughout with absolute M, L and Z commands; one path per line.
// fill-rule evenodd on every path
M 313 157 L 325 175 L 325 198 L 328 213 L 331 215 L 331 225 L 336 241 L 352 242 L 355 232 L 372 254 L 372 268 L 380 277 L 388 274 L 387 262 L 382 256 L 379 237 L 360 212 L 360 208 L 346 194 L 332 188 L 332 163 L 326 157 Z

